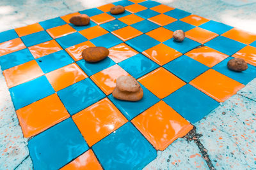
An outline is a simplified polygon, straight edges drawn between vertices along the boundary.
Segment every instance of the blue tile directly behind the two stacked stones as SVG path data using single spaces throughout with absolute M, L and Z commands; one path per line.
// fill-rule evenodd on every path
M 118 65 L 136 79 L 159 67 L 156 62 L 153 62 L 141 53 L 119 62 Z

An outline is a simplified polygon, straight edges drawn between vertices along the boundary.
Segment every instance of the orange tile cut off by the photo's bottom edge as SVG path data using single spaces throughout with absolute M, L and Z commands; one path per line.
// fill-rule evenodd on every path
M 84 152 L 60 170 L 103 170 L 92 150 Z

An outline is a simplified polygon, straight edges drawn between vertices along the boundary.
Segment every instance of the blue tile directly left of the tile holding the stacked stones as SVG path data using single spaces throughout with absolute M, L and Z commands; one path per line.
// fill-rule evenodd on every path
M 57 92 L 70 115 L 96 103 L 105 95 L 90 78 L 81 80 Z

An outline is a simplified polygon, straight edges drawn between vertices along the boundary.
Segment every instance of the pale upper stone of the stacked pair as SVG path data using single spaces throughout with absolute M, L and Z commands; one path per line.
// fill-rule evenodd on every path
M 132 76 L 120 76 L 116 79 L 116 87 L 123 92 L 138 92 L 140 83 Z

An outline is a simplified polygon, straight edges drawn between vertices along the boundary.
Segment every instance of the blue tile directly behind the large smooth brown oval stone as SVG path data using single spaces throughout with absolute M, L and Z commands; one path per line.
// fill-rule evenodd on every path
M 106 48 L 111 48 L 112 46 L 123 43 L 123 41 L 111 33 L 104 34 L 103 36 L 99 36 L 97 38 L 93 38 L 90 40 L 95 46 L 104 46 Z

